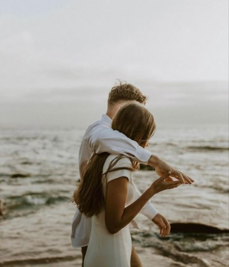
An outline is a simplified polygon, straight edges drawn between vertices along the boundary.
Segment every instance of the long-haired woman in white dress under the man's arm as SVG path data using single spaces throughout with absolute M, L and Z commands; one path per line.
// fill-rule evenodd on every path
M 111 127 L 144 148 L 155 131 L 155 122 L 145 107 L 131 103 L 119 109 Z M 136 199 L 132 171 L 138 168 L 138 163 L 124 155 L 94 154 L 89 160 L 73 196 L 79 210 L 92 217 L 84 267 L 130 267 L 129 223 L 154 194 L 181 184 L 164 181 L 168 173 Z

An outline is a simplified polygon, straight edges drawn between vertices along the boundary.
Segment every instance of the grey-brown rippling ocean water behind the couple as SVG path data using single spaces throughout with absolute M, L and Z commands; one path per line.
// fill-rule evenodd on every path
M 0 129 L 0 266 L 80 266 L 68 201 L 79 180 L 84 131 Z M 152 198 L 172 225 L 168 237 L 137 216 L 140 230 L 131 233 L 144 266 L 228 266 L 228 125 L 161 126 L 147 149 L 195 182 Z M 143 192 L 157 174 L 139 170 L 133 177 Z

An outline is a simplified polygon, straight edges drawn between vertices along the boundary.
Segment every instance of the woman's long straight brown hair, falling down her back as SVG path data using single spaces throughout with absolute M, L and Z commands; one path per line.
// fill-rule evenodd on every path
M 136 141 L 140 146 L 145 147 L 156 126 L 153 115 L 145 107 L 138 103 L 130 103 L 119 109 L 112 121 L 111 128 Z M 71 199 L 86 217 L 99 214 L 104 209 L 105 196 L 102 181 L 106 179 L 109 172 L 118 169 L 136 170 L 139 167 L 139 164 L 133 162 L 130 158 L 132 168 L 113 168 L 117 161 L 124 157 L 124 155 L 118 155 L 111 161 L 107 171 L 103 173 L 103 166 L 109 155 L 109 153 L 104 152 L 94 154 L 91 157 L 83 171 L 81 182 Z

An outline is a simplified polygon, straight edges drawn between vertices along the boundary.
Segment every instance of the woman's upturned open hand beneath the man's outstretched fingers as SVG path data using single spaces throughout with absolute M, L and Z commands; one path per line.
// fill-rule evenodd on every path
M 160 178 L 158 178 L 156 181 L 154 181 L 150 188 L 152 189 L 153 194 L 157 194 L 161 191 L 167 190 L 167 189 L 172 189 L 175 187 L 178 187 L 179 185 L 183 184 L 182 181 L 168 181 L 166 178 L 168 178 L 171 174 L 171 171 L 167 172 Z

